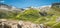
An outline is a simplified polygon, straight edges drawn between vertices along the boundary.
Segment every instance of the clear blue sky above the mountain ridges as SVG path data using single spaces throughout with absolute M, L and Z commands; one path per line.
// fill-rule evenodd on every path
M 60 0 L 3 0 L 2 2 L 17 8 L 25 8 L 29 6 L 39 7 L 51 5 L 52 3 L 60 2 Z

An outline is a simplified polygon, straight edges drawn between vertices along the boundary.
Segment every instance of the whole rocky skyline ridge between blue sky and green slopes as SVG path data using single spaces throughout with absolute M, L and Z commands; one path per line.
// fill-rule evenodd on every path
M 0 10 L 8 10 L 8 11 L 12 11 L 12 12 L 22 12 L 24 10 L 29 10 L 29 8 L 33 8 L 33 9 L 41 10 L 41 11 L 49 11 L 51 8 L 53 8 L 53 7 L 55 8 L 55 5 L 56 5 L 56 7 L 60 8 L 60 3 L 53 3 L 52 5 L 45 5 L 45 6 L 41 6 L 41 7 L 30 6 L 27 8 L 16 8 L 14 6 L 10 6 L 10 5 L 1 3 L 0 4 Z

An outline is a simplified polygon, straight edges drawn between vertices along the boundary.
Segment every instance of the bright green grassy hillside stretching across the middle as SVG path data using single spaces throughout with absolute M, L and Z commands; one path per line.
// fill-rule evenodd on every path
M 60 17 L 60 8 L 53 6 L 49 11 L 41 12 L 40 9 L 29 8 L 23 12 L 5 11 L 0 9 L 0 19 L 15 19 L 31 21 L 37 24 L 45 24 L 51 28 L 60 28 L 60 23 L 56 22 Z

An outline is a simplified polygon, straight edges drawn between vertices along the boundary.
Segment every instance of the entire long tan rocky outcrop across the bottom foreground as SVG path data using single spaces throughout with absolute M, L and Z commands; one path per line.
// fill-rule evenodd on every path
M 34 24 L 29 21 L 15 21 L 0 19 L 0 28 L 47 28 L 43 24 Z

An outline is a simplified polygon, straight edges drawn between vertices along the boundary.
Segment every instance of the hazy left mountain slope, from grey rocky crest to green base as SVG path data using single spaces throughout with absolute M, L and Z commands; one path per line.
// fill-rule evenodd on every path
M 7 4 L 0 4 L 0 18 L 12 18 L 23 10 Z

